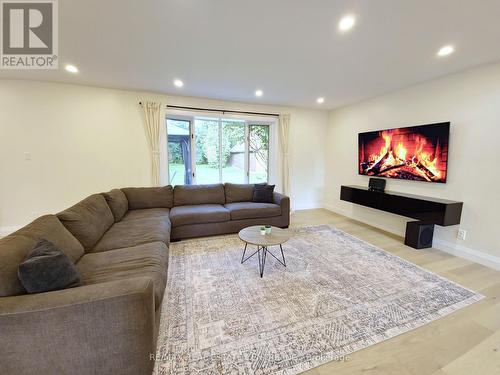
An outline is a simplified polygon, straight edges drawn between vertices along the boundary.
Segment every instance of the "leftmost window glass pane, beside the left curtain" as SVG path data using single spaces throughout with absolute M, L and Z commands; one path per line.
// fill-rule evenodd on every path
M 171 185 L 192 183 L 190 122 L 167 119 L 168 170 Z

